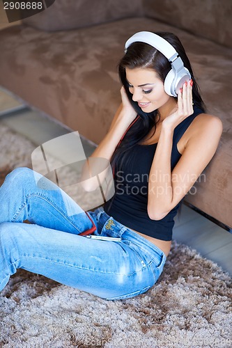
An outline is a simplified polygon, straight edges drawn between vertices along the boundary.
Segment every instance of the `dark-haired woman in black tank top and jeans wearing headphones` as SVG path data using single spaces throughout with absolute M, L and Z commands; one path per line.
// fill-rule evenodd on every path
M 114 197 L 104 209 L 80 213 L 48 181 L 38 188 L 39 174 L 10 173 L 0 189 L 0 290 L 18 268 L 105 299 L 144 293 L 159 278 L 173 217 L 215 154 L 222 122 L 205 113 L 176 35 L 133 35 L 119 76 L 122 104 L 91 156 L 111 161 Z M 68 216 L 63 197 L 76 214 Z

